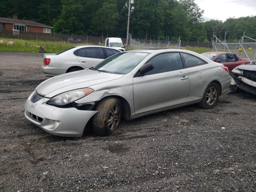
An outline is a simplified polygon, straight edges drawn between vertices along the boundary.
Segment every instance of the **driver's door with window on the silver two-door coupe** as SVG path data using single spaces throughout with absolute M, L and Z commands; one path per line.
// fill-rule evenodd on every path
M 135 114 L 186 103 L 190 80 L 180 54 L 159 54 L 147 63 L 154 69 L 133 78 Z

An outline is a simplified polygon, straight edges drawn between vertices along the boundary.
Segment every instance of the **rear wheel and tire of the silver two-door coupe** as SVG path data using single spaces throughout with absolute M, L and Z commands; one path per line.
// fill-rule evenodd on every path
M 211 91 L 211 89 L 216 90 L 216 94 L 212 94 L 211 92 L 213 91 Z M 216 83 L 211 82 L 207 86 L 206 90 L 204 91 L 204 96 L 198 105 L 205 109 L 212 109 L 216 106 L 219 96 L 220 96 L 219 86 Z

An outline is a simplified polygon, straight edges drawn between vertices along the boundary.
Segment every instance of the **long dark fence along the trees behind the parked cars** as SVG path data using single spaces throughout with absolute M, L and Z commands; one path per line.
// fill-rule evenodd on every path
M 12 29 L 1 28 L 0 38 L 16 38 L 22 40 L 37 40 L 37 41 L 53 41 L 53 42 L 67 42 L 72 44 L 94 44 L 105 45 L 106 36 L 88 36 L 88 35 L 74 35 L 74 34 L 57 34 L 57 33 L 40 33 L 40 32 L 21 32 Z M 126 43 L 126 38 L 121 38 L 123 44 Z M 144 48 L 176 48 L 179 49 L 185 46 L 212 48 L 209 42 L 190 42 L 190 41 L 169 41 L 160 40 L 159 38 L 141 39 L 131 38 L 129 40 L 130 47 L 134 49 Z M 129 47 L 128 47 L 129 48 Z

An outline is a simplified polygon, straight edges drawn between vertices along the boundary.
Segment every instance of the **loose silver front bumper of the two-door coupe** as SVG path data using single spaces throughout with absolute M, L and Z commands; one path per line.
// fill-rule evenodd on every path
M 46 104 L 48 98 L 33 103 L 30 98 L 26 100 L 25 117 L 44 131 L 57 136 L 81 137 L 87 122 L 97 113 L 51 106 Z

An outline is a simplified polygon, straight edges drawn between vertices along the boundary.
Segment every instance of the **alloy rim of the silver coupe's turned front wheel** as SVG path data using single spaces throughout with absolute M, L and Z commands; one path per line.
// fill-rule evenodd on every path
M 114 131 L 119 122 L 120 122 L 120 117 L 121 117 L 121 111 L 119 105 L 114 105 L 109 112 L 108 115 L 108 129 L 110 131 Z

